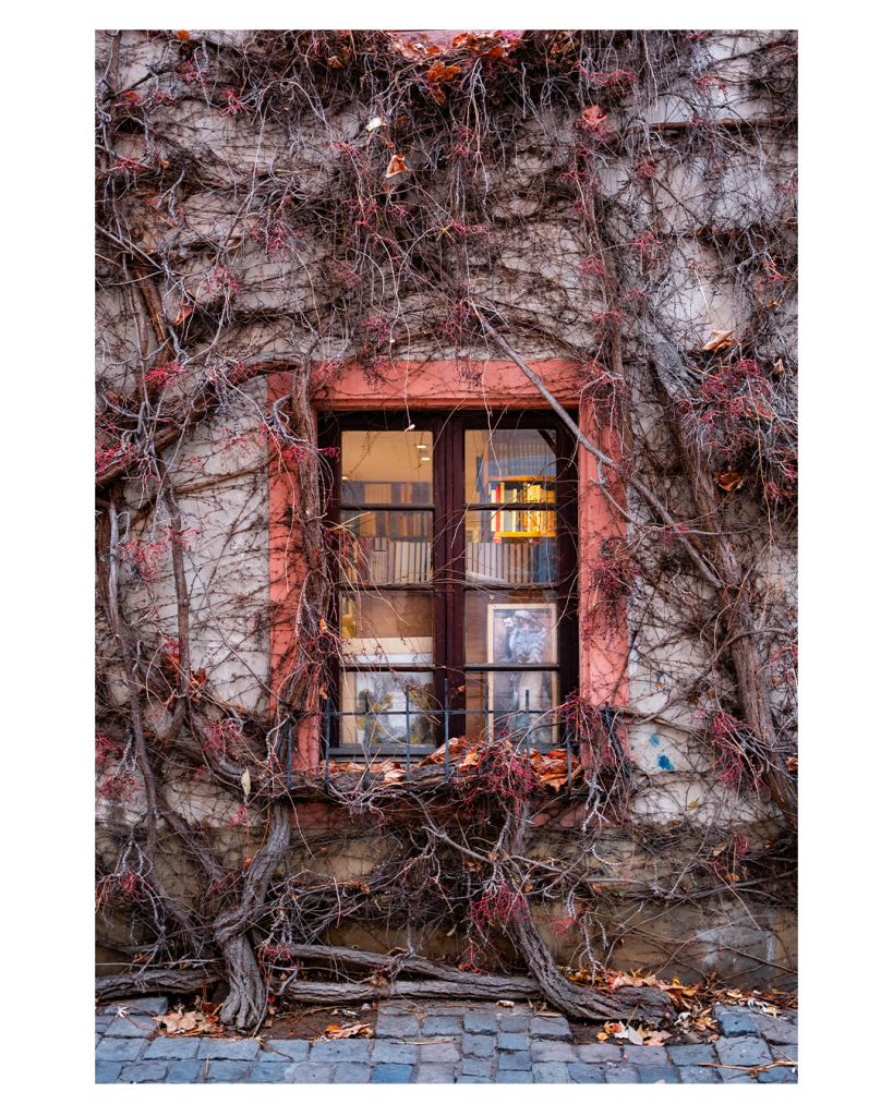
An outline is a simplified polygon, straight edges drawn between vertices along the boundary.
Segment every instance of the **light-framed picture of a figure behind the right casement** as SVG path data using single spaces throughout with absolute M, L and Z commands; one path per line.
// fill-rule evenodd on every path
M 537 670 L 558 658 L 558 605 L 491 604 L 487 606 L 488 661 L 518 664 L 517 671 L 490 671 L 488 735 L 548 750 L 558 741 L 550 711 L 558 704 L 558 672 Z

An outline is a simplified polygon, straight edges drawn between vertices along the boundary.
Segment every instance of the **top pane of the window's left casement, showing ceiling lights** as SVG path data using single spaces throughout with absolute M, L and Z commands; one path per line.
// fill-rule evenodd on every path
M 342 433 L 342 503 L 432 503 L 430 431 Z

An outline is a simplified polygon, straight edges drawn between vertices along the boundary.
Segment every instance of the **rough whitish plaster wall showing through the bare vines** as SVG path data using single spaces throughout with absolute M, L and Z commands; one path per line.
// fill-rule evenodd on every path
M 225 31 L 214 32 L 208 38 L 210 41 L 237 41 L 239 37 L 250 38 L 252 33 Z M 777 32 L 761 32 L 758 38 L 765 41 L 775 35 Z M 753 37 L 731 31 L 711 36 L 713 54 L 724 54 L 732 61 L 729 64 L 731 69 L 724 71 L 727 89 L 723 92 L 711 86 L 703 94 L 705 103 L 709 98 L 716 106 L 728 109 L 730 116 L 765 115 L 766 105 L 760 98 L 752 92 L 746 92 L 743 85 L 736 84 L 736 75 L 743 81 L 746 66 L 746 60 L 736 60 L 736 56 L 752 49 L 756 41 Z M 104 49 L 105 44 L 100 42 L 100 47 Z M 157 61 L 157 51 L 155 44 L 145 41 L 137 32 L 125 32 L 122 85 L 132 85 L 146 76 L 147 66 Z M 292 350 L 291 323 L 300 314 L 313 312 L 315 280 L 330 267 L 330 260 L 313 228 L 306 229 L 298 238 L 295 256 L 287 260 L 270 260 L 248 231 L 251 221 L 251 209 L 246 209 L 248 190 L 258 175 L 263 174 L 271 176 L 273 184 L 277 180 L 279 185 L 284 181 L 297 180 L 308 195 L 325 194 L 333 181 L 336 155 L 326 142 L 321 142 L 309 117 L 303 118 L 310 121 L 307 125 L 296 113 L 288 131 L 271 125 L 263 134 L 258 134 L 251 118 L 221 117 L 217 108 L 205 104 L 199 88 L 184 87 L 184 90 L 186 99 L 164 109 L 174 125 L 173 137 L 188 151 L 208 157 L 219 181 L 231 184 L 231 192 L 224 196 L 192 195 L 183 202 L 166 199 L 161 210 L 142 203 L 146 243 L 159 247 L 182 238 L 185 231 L 188 250 L 194 256 L 188 256 L 183 267 L 184 270 L 192 270 L 190 262 L 194 261 L 196 271 L 202 261 L 202 240 L 239 243 L 240 278 L 244 285 L 240 306 L 269 310 L 271 315 L 285 314 L 285 317 L 269 327 L 246 325 L 233 319 L 223 331 L 222 350 L 234 355 L 251 350 Z M 682 121 L 688 113 L 688 107 L 671 94 L 651 108 L 650 116 L 655 122 Z M 551 112 L 539 115 L 531 112 L 526 118 L 512 122 L 516 134 L 522 137 L 519 158 L 505 175 L 494 174 L 492 169 L 487 172 L 490 175 L 487 180 L 489 214 L 501 222 L 498 248 L 483 244 L 476 249 L 472 260 L 477 266 L 469 281 L 472 290 L 486 294 L 497 304 L 509 302 L 516 310 L 529 312 L 531 318 L 556 335 L 586 346 L 592 343 L 595 331 L 593 318 L 604 309 L 579 278 L 579 262 L 589 249 L 578 224 L 572 224 L 565 211 L 554 211 L 549 204 L 544 204 L 544 180 L 563 173 L 567 167 L 574 144 L 573 121 L 573 116 L 556 119 Z M 345 140 L 356 137 L 363 126 L 363 121 L 349 110 L 333 114 L 329 123 L 340 128 Z M 618 123 L 622 123 L 622 117 Z M 556 124 L 560 125 L 557 133 Z M 122 137 L 119 143 L 122 156 L 145 155 L 141 136 Z M 420 157 L 424 154 L 421 153 Z M 692 222 L 685 210 L 686 200 L 695 201 L 704 195 L 713 199 L 714 218 L 720 224 L 753 221 L 764 210 L 777 209 L 776 187 L 787 181 L 795 166 L 793 152 L 775 146 L 767 148 L 756 161 L 751 157 L 732 158 L 720 170 L 700 157 L 681 158 L 679 151 L 671 150 L 669 145 L 663 150 L 657 144 L 652 154 L 662 181 L 680 199 L 674 200 L 664 191 L 661 220 L 668 228 L 688 231 L 692 231 Z M 440 158 L 436 152 L 428 155 L 435 163 Z M 444 213 L 448 213 L 451 175 L 454 172 L 442 165 L 440 189 Z M 604 190 L 622 195 L 628 185 L 628 169 L 606 162 L 602 173 Z M 743 181 L 748 184 L 747 201 L 730 203 L 722 185 Z M 179 229 L 172 228 L 171 206 Z M 631 235 L 641 232 L 640 229 L 630 229 Z M 704 262 L 709 270 L 714 270 L 716 261 L 709 248 L 694 238 L 676 240 L 668 251 L 671 277 L 688 273 L 691 263 L 697 260 Z M 387 277 L 382 276 L 381 281 L 382 290 L 386 291 Z M 285 292 L 273 289 L 279 283 L 284 283 Z M 182 286 L 185 290 L 186 285 Z M 210 289 L 208 283 L 199 282 L 189 289 L 199 306 L 210 305 L 219 297 L 219 291 Z M 176 312 L 181 295 L 182 291 L 167 294 L 169 312 Z M 693 290 L 680 288 L 668 280 L 664 308 L 684 320 L 690 337 L 703 341 L 712 329 L 737 328 L 743 320 L 747 306 L 743 298 L 745 292 L 738 287 L 733 273 L 713 277 Z M 425 354 L 453 355 L 454 350 L 442 338 L 432 336 L 430 316 L 431 308 L 422 297 L 411 297 L 402 302 L 395 317 L 409 339 L 395 345 L 395 357 L 416 359 Z M 123 296 L 116 296 L 112 305 L 100 305 L 98 318 L 104 327 L 114 321 L 117 340 L 133 346 L 134 331 Z M 778 328 L 786 337 L 793 337 L 796 329 L 796 306 L 793 302 L 786 304 L 779 312 Z M 624 329 L 631 339 L 635 338 L 637 323 L 633 314 Z M 337 334 L 337 329 L 333 333 Z M 474 348 L 470 352 L 472 356 L 486 355 Z M 555 355 L 548 341 L 531 341 L 525 353 L 530 358 Z M 339 354 L 324 347 L 316 355 Z M 116 358 L 114 346 L 106 345 L 100 359 L 104 373 L 112 379 L 116 375 Z M 262 382 L 243 389 L 244 398 L 239 401 L 240 406 L 243 405 L 243 413 L 240 412 L 238 420 L 240 434 L 251 436 L 256 432 L 257 417 L 265 406 L 265 392 Z M 236 410 L 239 411 L 239 406 Z M 650 415 L 646 405 L 642 411 L 645 422 L 649 417 L 653 420 L 656 413 L 654 408 Z M 177 448 L 177 462 L 181 466 L 186 463 L 181 473 L 186 487 L 199 484 L 214 474 L 248 469 L 252 462 L 260 460 L 260 448 L 257 452 L 223 449 L 223 442 L 229 436 L 223 431 L 224 426 L 233 429 L 224 416 L 215 417 L 191 433 Z M 192 466 L 188 464 L 191 460 L 194 461 Z M 138 504 L 140 493 L 132 491 L 131 496 L 134 506 Z M 208 670 L 223 703 L 244 708 L 257 708 L 266 702 L 269 684 L 267 636 L 262 623 L 258 623 L 269 593 L 265 552 L 266 496 L 266 472 L 261 469 L 253 481 L 243 477 L 231 483 L 222 482 L 218 489 L 195 491 L 182 500 L 184 526 L 196 531 L 186 568 L 193 604 L 198 605 L 193 668 L 204 666 Z M 668 497 L 675 508 L 684 510 L 680 493 L 669 492 Z M 156 530 L 154 536 L 153 526 Z M 161 526 L 143 522 L 136 529 L 137 537 L 141 540 L 157 538 Z M 774 565 L 767 571 L 767 579 L 791 584 L 794 558 L 790 549 L 776 549 L 771 561 Z M 170 556 L 162 556 L 159 576 L 150 586 L 138 579 L 131 579 L 127 584 L 127 606 L 134 615 L 138 616 L 142 610 L 146 618 L 160 618 L 173 637 L 175 618 L 170 584 Z M 692 584 L 691 593 L 700 591 Z M 657 612 L 650 629 L 638 638 L 654 647 L 672 633 L 673 617 L 661 615 L 660 600 L 652 599 L 650 604 L 656 605 Z M 631 627 L 635 626 L 636 609 L 637 603 L 633 599 Z M 663 643 L 661 656 L 663 674 L 659 676 L 660 672 L 638 668 L 637 647 L 634 646 L 631 654 L 630 700 L 644 713 L 656 714 L 665 704 L 666 693 L 684 690 L 698 676 L 704 661 L 704 652 L 697 642 L 680 638 L 676 634 Z M 693 705 L 692 712 L 695 711 L 697 705 Z M 693 720 L 689 719 L 686 723 L 685 718 L 678 713 L 673 714 L 670 723 L 662 719 L 633 725 L 631 750 L 641 776 L 640 792 L 634 798 L 636 817 L 661 821 L 685 817 L 694 824 L 711 825 L 720 819 L 745 822 L 765 812 L 765 802 L 737 798 L 717 786 L 711 778 L 709 757 L 692 742 L 692 730 L 695 728 Z M 663 764 L 661 757 L 664 758 Z M 224 804 L 218 810 L 217 806 L 204 801 L 202 793 L 190 791 L 193 792 L 196 817 L 219 821 L 230 808 L 231 804 Z M 699 805 L 692 809 L 695 801 Z M 109 809 L 107 804 L 103 809 Z M 203 812 L 207 810 L 211 812 Z

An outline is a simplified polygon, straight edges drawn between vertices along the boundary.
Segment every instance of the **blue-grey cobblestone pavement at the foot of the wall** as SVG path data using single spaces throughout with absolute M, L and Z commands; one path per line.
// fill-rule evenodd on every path
M 380 1008 L 374 1039 L 153 1038 L 163 999 L 96 1014 L 97 1084 L 757 1085 L 797 1083 L 796 1012 L 714 1011 L 723 1038 L 690 1046 L 577 1045 L 567 1020 L 529 1007 Z

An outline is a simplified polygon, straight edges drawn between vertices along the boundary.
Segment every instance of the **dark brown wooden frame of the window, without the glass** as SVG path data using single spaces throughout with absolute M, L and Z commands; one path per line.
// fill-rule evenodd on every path
M 557 595 L 558 604 L 558 686 L 559 700 L 564 701 L 579 685 L 578 662 L 578 567 L 577 567 L 577 461 L 576 442 L 560 419 L 550 411 L 527 408 L 482 411 L 480 408 L 443 411 L 436 408 L 411 408 L 382 411 L 320 411 L 318 414 L 318 444 L 320 449 L 339 449 L 340 434 L 349 430 L 405 431 L 412 422 L 417 430 L 430 430 L 433 435 L 433 497 L 434 539 L 432 550 L 433 577 L 431 583 L 417 586 L 401 585 L 401 591 L 432 593 L 434 598 L 434 695 L 435 708 L 441 709 L 445 685 L 450 694 L 450 735 L 462 735 L 465 718 L 465 672 L 482 673 L 467 667 L 464 658 L 464 595 L 471 590 L 464 580 L 464 434 L 467 430 L 549 430 L 555 435 L 558 470 L 556 477 L 556 543 L 557 580 L 542 588 Z M 326 526 L 335 528 L 340 523 L 342 466 L 332 470 L 332 480 L 325 493 Z M 474 508 L 473 502 L 469 502 Z M 426 510 L 421 506 L 419 510 Z M 340 591 L 344 584 L 333 594 L 332 623 L 340 631 Z M 355 585 L 349 588 L 356 589 Z M 489 668 L 489 666 L 488 666 Z M 340 666 L 333 658 L 328 664 L 329 693 L 340 700 Z M 340 719 L 335 718 L 339 723 Z M 434 718 L 435 743 L 443 743 L 443 718 Z M 335 727 L 334 727 L 335 728 Z M 340 751 L 340 734 L 335 732 L 332 747 Z

